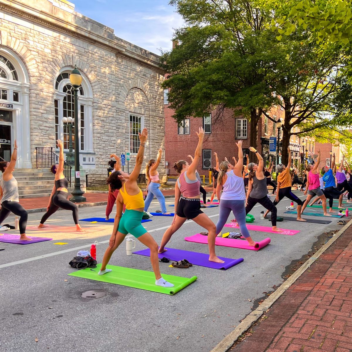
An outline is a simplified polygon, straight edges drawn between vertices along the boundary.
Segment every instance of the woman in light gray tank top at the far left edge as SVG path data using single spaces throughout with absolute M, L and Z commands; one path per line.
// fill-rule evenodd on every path
M 0 224 L 4 222 L 10 213 L 20 217 L 20 240 L 30 241 L 31 238 L 26 236 L 26 226 L 28 214 L 26 209 L 20 205 L 18 196 L 18 184 L 13 177 L 12 172 L 15 170 L 17 160 L 17 142 L 15 140 L 14 149 L 11 155 L 11 161 L 3 161 L 0 163 L 0 170 L 2 171 L 0 179 L 0 197 L 1 197 L 1 210 L 0 210 Z

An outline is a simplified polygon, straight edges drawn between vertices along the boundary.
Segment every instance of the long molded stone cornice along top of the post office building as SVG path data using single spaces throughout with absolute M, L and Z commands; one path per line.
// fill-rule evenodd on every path
M 25 18 L 44 27 L 68 34 L 71 37 L 81 39 L 92 45 L 111 51 L 118 57 L 138 63 L 139 65 L 155 70 L 162 75 L 165 73 L 164 70 L 159 67 L 157 56 L 155 56 L 156 59 L 154 60 L 133 52 L 128 48 L 126 43 L 118 40 L 116 36 L 114 36 L 114 39 L 100 36 L 99 34 L 89 31 L 77 24 L 72 24 L 62 18 L 56 17 L 51 13 L 37 11 L 32 7 L 25 6 L 23 3 L 16 1 L 1 0 L 0 9 L 4 12 L 14 14 L 20 18 Z M 103 28 L 108 29 L 106 26 Z

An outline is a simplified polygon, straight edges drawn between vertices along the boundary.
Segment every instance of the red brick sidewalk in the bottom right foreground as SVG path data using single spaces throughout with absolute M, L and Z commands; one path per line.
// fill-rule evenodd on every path
M 230 351 L 351 352 L 351 311 L 352 226 Z

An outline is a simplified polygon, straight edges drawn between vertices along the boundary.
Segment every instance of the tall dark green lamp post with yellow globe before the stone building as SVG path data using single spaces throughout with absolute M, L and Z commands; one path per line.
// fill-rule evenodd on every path
M 78 139 L 78 88 L 82 83 L 82 76 L 78 71 L 76 65 L 70 74 L 70 82 L 73 86 L 74 91 L 74 112 L 75 112 L 75 188 L 73 190 L 71 202 L 82 203 L 87 201 L 83 197 L 83 191 L 81 190 L 81 177 L 80 177 L 80 144 Z

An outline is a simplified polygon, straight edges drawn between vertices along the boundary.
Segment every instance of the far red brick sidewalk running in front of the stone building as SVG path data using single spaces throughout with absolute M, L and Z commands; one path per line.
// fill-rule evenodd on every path
M 207 192 L 212 192 L 213 188 L 205 187 L 204 188 Z M 161 190 L 164 196 L 175 195 L 174 189 L 162 189 Z M 146 192 L 143 192 L 145 195 Z M 92 203 L 101 203 L 107 202 L 108 194 L 107 193 L 85 193 L 84 197 L 87 198 L 87 202 L 79 203 L 79 204 L 92 204 Z M 38 198 L 21 198 L 20 204 L 26 209 L 40 209 L 46 208 L 48 206 L 49 197 L 38 197 Z M 106 203 L 105 203 L 106 204 Z

